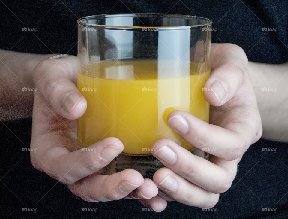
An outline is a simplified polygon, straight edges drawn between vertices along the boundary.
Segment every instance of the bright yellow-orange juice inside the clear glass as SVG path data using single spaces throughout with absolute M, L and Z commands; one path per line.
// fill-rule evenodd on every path
M 193 149 L 170 129 L 167 116 L 184 110 L 208 122 L 209 104 L 202 88 L 210 69 L 198 69 L 198 63 L 190 63 L 188 76 L 167 78 L 155 59 L 101 61 L 84 67 L 78 73 L 78 89 L 87 110 L 77 120 L 78 147 L 116 137 L 127 155 L 149 155 L 161 138 Z

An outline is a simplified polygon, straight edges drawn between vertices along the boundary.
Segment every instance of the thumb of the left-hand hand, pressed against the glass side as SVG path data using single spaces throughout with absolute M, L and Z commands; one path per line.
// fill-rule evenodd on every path
M 74 120 L 82 116 L 87 102 L 75 85 L 77 57 L 47 59 L 39 63 L 33 80 L 47 102 L 61 116 Z

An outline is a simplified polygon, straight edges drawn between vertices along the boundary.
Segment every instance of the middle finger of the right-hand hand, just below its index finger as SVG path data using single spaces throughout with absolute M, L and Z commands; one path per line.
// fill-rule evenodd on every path
M 169 139 L 156 141 L 152 148 L 152 154 L 166 167 L 212 193 L 226 192 L 237 172 L 239 159 L 230 162 L 221 160 L 221 165 L 217 165 L 218 163 L 196 156 Z

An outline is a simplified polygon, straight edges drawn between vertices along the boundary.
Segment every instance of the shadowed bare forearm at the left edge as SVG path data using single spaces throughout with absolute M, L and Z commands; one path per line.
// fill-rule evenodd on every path
M 34 92 L 31 89 L 35 88 L 32 72 L 50 56 L 0 50 L 0 120 L 32 116 Z

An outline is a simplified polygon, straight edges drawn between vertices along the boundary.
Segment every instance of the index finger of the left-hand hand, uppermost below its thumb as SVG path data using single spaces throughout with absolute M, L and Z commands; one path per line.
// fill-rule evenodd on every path
M 47 150 L 38 148 L 36 153 L 31 154 L 31 159 L 37 161 L 38 166 L 52 178 L 72 184 L 107 166 L 123 148 L 119 139 L 110 137 L 73 152 L 61 146 Z

